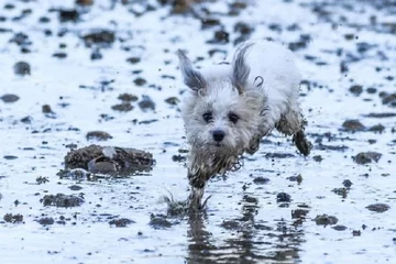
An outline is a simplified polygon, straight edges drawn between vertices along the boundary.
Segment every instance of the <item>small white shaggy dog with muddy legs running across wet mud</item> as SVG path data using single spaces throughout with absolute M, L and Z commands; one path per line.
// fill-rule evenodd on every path
M 195 69 L 180 50 L 177 55 L 189 88 L 180 111 L 190 145 L 190 208 L 201 209 L 208 180 L 239 169 L 242 154 L 254 154 L 274 129 L 293 135 L 299 152 L 309 155 L 298 102 L 301 76 L 288 48 L 248 41 L 237 47 L 231 63 L 204 70 Z

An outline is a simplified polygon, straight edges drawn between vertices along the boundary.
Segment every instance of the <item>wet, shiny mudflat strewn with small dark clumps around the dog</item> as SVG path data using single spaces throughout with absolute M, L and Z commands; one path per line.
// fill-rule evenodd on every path
M 1 263 L 395 262 L 395 1 L 77 2 L 0 3 Z M 188 195 L 175 52 L 246 38 L 296 53 L 312 153 L 273 133 L 204 213 L 167 216 Z M 61 172 L 91 144 L 155 163 Z

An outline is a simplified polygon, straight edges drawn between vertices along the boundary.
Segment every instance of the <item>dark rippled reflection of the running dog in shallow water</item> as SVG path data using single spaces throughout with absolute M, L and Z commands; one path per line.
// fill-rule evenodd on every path
M 233 238 L 219 241 L 206 230 L 205 212 L 189 216 L 188 256 L 186 263 L 296 263 L 304 243 L 301 219 L 256 221 L 258 200 L 245 195 L 241 217 L 221 223 Z M 267 223 L 267 224 L 264 224 Z

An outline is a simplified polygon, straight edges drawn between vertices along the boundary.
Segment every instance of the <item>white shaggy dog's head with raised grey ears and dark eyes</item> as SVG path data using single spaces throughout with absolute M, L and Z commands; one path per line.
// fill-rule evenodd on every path
M 245 46 L 237 53 L 229 74 L 219 80 L 206 79 L 193 68 L 188 57 L 178 52 L 184 82 L 190 89 L 182 113 L 187 139 L 196 148 L 239 155 L 257 133 L 263 96 L 246 88 L 250 81 L 250 68 L 245 64 L 248 50 Z

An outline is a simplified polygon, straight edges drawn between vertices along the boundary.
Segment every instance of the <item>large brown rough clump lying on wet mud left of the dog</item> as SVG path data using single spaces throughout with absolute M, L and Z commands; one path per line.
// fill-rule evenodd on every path
M 155 160 L 148 152 L 141 150 L 89 145 L 72 150 L 65 156 L 65 168 L 84 168 L 98 174 L 133 174 L 151 170 Z

